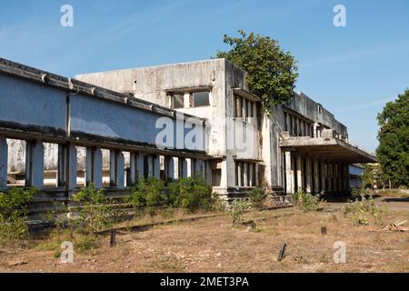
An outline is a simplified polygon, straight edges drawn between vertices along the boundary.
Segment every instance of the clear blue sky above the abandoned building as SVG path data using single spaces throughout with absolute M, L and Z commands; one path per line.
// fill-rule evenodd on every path
M 73 5 L 74 27 L 60 25 Z M 346 27 L 333 25 L 334 5 Z M 358 145 L 377 146 L 376 115 L 409 87 L 409 1 L 0 2 L 0 57 L 73 76 L 206 59 L 238 29 L 269 35 L 299 65 L 296 91 L 348 126 Z

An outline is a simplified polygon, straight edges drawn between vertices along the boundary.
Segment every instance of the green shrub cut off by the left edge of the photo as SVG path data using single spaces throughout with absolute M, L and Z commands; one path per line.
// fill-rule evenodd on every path
M 0 242 L 11 243 L 28 237 L 28 206 L 37 192 L 35 188 L 0 192 Z

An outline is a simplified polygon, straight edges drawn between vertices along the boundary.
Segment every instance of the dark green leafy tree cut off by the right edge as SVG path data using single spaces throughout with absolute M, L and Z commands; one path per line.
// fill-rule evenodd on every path
M 409 90 L 388 102 L 377 119 L 380 130 L 376 156 L 384 177 L 393 186 L 409 186 Z

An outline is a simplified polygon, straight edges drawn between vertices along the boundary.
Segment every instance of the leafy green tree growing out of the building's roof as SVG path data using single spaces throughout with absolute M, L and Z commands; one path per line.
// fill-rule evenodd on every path
M 247 85 L 262 98 L 266 113 L 274 105 L 291 101 L 298 77 L 294 57 L 268 36 L 247 35 L 243 30 L 238 33 L 241 37 L 224 35 L 224 43 L 233 47 L 228 52 L 218 51 L 217 57 L 226 58 L 249 73 Z

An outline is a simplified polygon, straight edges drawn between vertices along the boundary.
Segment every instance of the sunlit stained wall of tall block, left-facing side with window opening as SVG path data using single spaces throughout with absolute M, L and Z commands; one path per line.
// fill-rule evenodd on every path
M 177 111 L 205 118 L 209 122 L 208 153 L 225 155 L 224 59 L 159 65 L 111 72 L 76 75 L 84 82 L 107 89 L 130 93 L 135 97 L 170 107 L 169 91 L 210 90 L 210 105 L 180 108 Z

